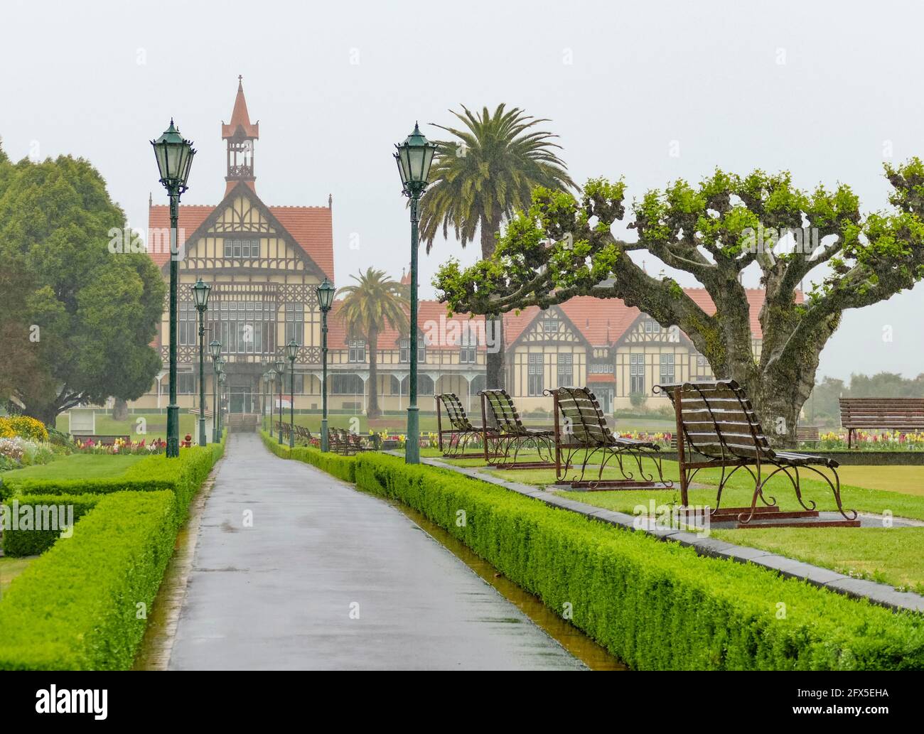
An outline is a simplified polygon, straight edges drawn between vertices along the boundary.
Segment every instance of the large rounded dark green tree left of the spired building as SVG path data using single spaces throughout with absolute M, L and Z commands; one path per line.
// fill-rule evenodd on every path
M 146 253 L 126 251 L 117 234 L 125 215 L 89 162 L 61 156 L 2 169 L 0 264 L 18 290 L 0 297 L 18 303 L 3 310 L 11 338 L 0 358 L 31 366 L 8 394 L 48 425 L 79 403 L 140 397 L 161 367 L 150 345 L 164 303 L 160 271 Z

